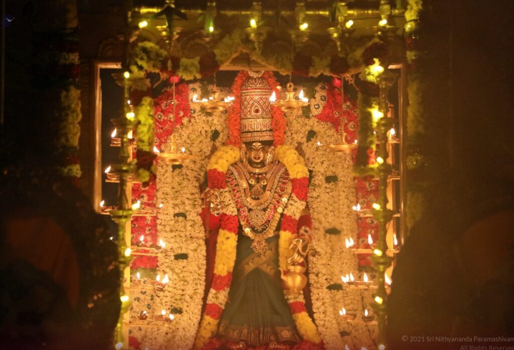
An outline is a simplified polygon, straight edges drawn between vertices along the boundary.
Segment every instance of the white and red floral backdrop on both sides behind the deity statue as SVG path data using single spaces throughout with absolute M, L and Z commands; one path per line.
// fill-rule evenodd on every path
M 160 149 L 173 137 L 191 158 L 179 166 L 156 160 L 156 181 L 148 187 L 133 188 L 134 200 L 155 209 L 157 215 L 133 218 L 132 244 L 164 243 L 164 247 L 158 257 L 137 257 L 131 265 L 132 278 L 155 281 L 157 276 L 161 280 L 167 276 L 169 281 L 162 290 L 131 290 L 130 318 L 137 320 L 143 311 L 159 316 L 161 310 L 174 316 L 164 326 L 130 326 L 130 344 L 141 349 L 192 347 L 205 287 L 205 228 L 198 215 L 202 207 L 200 186 L 213 151 L 229 138 L 227 113 L 211 115 L 193 101 L 194 94 L 198 100 L 208 98 L 202 95 L 207 91 L 205 84 L 176 83 L 175 105 L 171 84 L 153 101 L 154 144 Z M 357 315 L 365 308 L 371 311 L 368 303 L 372 291 L 349 289 L 341 284 L 341 276 L 352 273 L 362 280 L 369 265 L 366 257 L 359 259 L 345 248 L 345 239 L 351 237 L 358 245 L 367 242 L 368 234 L 378 232 L 372 218 L 361 218 L 352 209 L 357 203 L 363 209 L 371 208 L 377 195 L 376 182 L 354 178 L 355 154 L 337 154 L 320 147 L 340 142 L 341 121 L 346 141 L 354 142 L 357 137 L 357 106 L 347 97 L 341 106 L 340 84 L 334 80 L 313 85 L 311 91 L 306 89 L 311 103 L 298 113 L 286 114 L 284 143 L 305 154 L 310 172 L 308 205 L 314 243 L 309 255 L 309 283 L 319 332 L 328 349 L 345 345 L 370 349 L 376 326 L 349 323 L 339 315 L 342 307 Z

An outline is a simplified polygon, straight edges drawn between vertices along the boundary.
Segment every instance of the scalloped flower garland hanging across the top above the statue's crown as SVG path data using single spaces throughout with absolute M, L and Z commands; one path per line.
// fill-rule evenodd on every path
M 272 67 L 281 74 L 298 73 L 302 76 L 319 76 L 320 74 L 339 76 L 348 72 L 358 72 L 366 65 L 362 61 L 362 52 L 376 43 L 376 38 L 355 38 L 345 45 L 342 53 L 331 53 L 333 48 L 329 44 L 323 52 L 327 55 L 307 56 L 300 53 L 295 55 L 277 50 L 276 42 L 264 40 L 258 50 L 247 40 L 247 33 L 241 29 L 234 29 L 217 42 L 212 51 L 196 57 L 182 57 L 168 54 L 157 44 L 148 41 L 139 41 L 135 44 L 133 55 L 134 68 L 146 72 L 166 72 L 168 75 L 178 75 L 182 79 L 192 80 L 206 77 L 215 73 L 219 67 L 227 64 L 233 57 L 246 52 L 255 61 Z M 290 45 L 290 43 L 285 45 Z

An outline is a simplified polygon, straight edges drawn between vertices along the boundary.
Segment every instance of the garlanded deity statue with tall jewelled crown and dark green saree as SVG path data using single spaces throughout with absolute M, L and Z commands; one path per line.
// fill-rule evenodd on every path
M 226 146 L 210 162 L 218 179 L 204 198 L 221 228 L 196 348 L 207 338 L 206 348 L 229 349 L 321 342 L 302 294 L 311 240 L 307 170 L 296 150 L 273 145 L 270 94 L 262 72 L 249 72 L 241 86 L 241 147 Z

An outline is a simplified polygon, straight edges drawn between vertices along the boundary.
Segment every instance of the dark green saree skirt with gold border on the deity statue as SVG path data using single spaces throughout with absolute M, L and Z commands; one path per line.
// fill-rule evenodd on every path
M 241 229 L 241 227 L 240 227 Z M 284 297 L 279 267 L 279 236 L 266 239 L 261 255 L 252 240 L 241 234 L 237 241 L 229 299 L 218 326 L 227 341 L 250 346 L 301 340 Z

